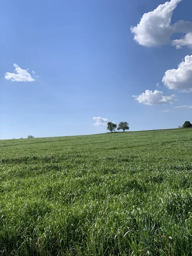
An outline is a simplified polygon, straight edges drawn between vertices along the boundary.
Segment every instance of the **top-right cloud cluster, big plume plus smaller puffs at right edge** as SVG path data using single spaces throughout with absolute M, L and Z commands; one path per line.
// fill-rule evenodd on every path
M 182 46 L 192 47 L 192 22 L 179 20 L 171 24 L 174 9 L 181 0 L 170 0 L 160 4 L 154 11 L 144 13 L 137 26 L 131 27 L 134 40 L 140 45 L 153 47 L 168 44 L 174 33 L 185 33 L 183 38 L 172 41 L 177 49 Z

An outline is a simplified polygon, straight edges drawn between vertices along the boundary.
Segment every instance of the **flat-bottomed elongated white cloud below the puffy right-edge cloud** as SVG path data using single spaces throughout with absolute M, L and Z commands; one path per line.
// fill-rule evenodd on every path
M 145 93 L 141 93 L 135 100 L 144 105 L 159 105 L 159 104 L 173 104 L 177 97 L 172 94 L 171 96 L 163 96 L 163 92 L 158 90 L 146 90 Z

